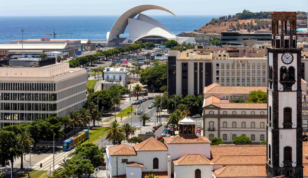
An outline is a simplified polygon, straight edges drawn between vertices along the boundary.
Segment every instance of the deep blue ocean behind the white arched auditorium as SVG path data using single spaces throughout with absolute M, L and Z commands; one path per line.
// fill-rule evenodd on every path
M 90 39 L 106 40 L 106 33 L 110 31 L 119 16 L 11 16 L 0 17 L 0 43 L 21 40 L 21 28 L 24 39 L 40 39 L 46 33 L 57 33 L 56 39 Z M 219 15 L 179 15 L 179 19 L 172 15 L 151 15 L 165 25 L 175 35 L 194 31 Z M 53 39 L 53 36 L 49 36 Z M 128 28 L 120 37 L 128 37 Z

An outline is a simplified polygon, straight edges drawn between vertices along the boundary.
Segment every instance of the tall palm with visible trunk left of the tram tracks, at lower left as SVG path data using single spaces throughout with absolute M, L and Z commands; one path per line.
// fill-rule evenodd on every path
M 19 144 L 22 145 L 23 147 L 23 153 L 28 153 L 31 150 L 31 147 L 34 143 L 33 138 L 31 138 L 31 134 L 29 131 L 22 131 L 17 135 L 17 139 L 19 141 Z M 20 163 L 20 169 L 24 168 L 23 160 L 22 160 L 22 154 L 20 155 L 21 157 L 21 163 Z

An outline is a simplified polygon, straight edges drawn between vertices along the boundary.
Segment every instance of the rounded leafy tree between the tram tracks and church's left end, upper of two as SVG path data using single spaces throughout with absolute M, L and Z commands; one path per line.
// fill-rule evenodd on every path
M 93 167 L 99 167 L 104 162 L 104 150 L 93 143 L 86 143 L 76 148 L 76 155 L 91 161 Z

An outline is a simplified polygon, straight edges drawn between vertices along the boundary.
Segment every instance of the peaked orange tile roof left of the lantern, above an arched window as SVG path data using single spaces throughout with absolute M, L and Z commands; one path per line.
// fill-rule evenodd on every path
M 133 145 L 136 151 L 168 151 L 165 144 L 156 140 L 153 137 L 148 138 L 141 143 Z

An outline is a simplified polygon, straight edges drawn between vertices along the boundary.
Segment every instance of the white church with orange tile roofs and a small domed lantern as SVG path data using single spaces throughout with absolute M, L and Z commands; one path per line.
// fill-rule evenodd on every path
M 195 121 L 179 122 L 180 135 L 165 137 L 165 143 L 150 137 L 135 145 L 107 145 L 107 178 L 266 178 L 266 145 L 212 145 L 206 137 L 195 136 Z M 303 144 L 303 153 L 308 153 Z M 303 157 L 303 164 L 308 160 Z M 306 170 L 306 168 L 304 168 Z M 308 176 L 304 171 L 304 177 Z

